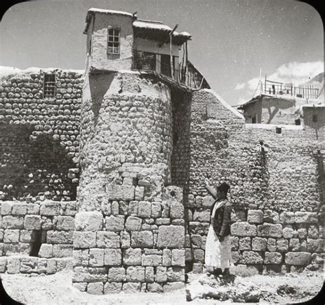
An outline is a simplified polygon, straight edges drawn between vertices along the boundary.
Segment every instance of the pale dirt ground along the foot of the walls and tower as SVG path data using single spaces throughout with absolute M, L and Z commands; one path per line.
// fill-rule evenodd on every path
M 51 276 L 3 274 L 5 291 L 23 304 L 239 304 L 295 303 L 310 300 L 321 290 L 323 273 L 309 271 L 285 276 L 236 276 L 217 281 L 206 274 L 189 273 L 185 289 L 171 293 L 90 295 L 71 286 L 71 269 Z M 187 298 L 187 301 L 186 301 Z M 191 300 L 191 301 L 190 301 Z

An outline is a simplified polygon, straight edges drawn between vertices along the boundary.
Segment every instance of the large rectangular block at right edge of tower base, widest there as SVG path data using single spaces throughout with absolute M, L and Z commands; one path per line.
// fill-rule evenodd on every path
M 158 228 L 159 248 L 182 248 L 185 243 L 185 230 L 181 225 L 160 225 Z

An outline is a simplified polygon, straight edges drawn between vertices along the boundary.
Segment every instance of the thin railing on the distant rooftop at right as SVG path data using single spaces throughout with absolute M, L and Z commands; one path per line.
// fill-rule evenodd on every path
M 266 80 L 260 82 L 261 93 L 265 95 L 291 95 L 293 97 L 302 97 L 303 99 L 317 99 L 319 88 L 315 86 L 293 86 L 281 82 Z

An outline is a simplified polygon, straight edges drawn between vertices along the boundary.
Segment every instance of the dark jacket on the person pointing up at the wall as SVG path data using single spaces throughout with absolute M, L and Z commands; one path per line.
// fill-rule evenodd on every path
M 211 186 L 206 187 L 209 193 L 217 198 L 217 192 Z M 215 217 L 213 219 L 213 230 L 215 230 L 215 234 L 219 237 L 225 237 L 230 235 L 230 216 L 232 211 L 232 206 L 228 199 L 225 199 L 227 202 L 221 208 L 218 208 L 215 211 Z M 215 201 L 215 203 L 211 206 L 210 216 L 212 215 L 213 208 L 215 204 L 219 202 L 219 199 Z M 211 221 L 210 221 L 211 222 Z

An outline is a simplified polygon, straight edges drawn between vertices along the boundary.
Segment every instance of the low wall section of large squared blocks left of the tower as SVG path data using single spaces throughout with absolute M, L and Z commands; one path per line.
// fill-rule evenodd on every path
M 0 272 L 46 273 L 72 265 L 75 202 L 0 203 Z

